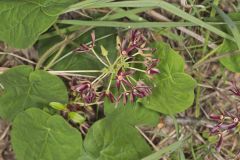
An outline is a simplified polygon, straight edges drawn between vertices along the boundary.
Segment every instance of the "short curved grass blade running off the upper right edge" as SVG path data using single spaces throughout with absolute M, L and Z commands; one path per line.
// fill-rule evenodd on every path
M 219 9 L 218 7 L 214 6 L 218 12 L 218 14 L 222 17 L 222 19 L 227 23 L 228 28 L 230 29 L 230 31 L 233 34 L 233 37 L 235 38 L 235 42 L 238 46 L 238 48 L 240 49 L 240 33 L 239 30 L 236 26 L 236 24 L 232 21 L 232 19 L 226 14 L 224 13 L 221 9 Z

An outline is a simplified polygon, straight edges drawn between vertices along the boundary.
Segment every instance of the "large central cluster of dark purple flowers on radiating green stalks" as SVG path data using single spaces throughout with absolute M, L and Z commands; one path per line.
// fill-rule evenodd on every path
M 134 30 L 125 38 L 118 37 L 117 49 L 118 57 L 114 63 L 111 63 L 107 55 L 97 54 L 94 50 L 95 34 L 91 34 L 92 41 L 90 44 L 83 44 L 77 48 L 76 52 L 93 53 L 96 58 L 104 64 L 105 71 L 95 80 L 89 79 L 88 81 L 80 81 L 77 84 L 71 84 L 71 89 L 80 95 L 82 101 L 86 104 L 94 103 L 103 100 L 107 97 L 112 103 L 120 101 L 125 105 L 130 101 L 135 102 L 137 98 L 144 98 L 149 96 L 152 91 L 151 87 L 142 80 L 135 80 L 135 73 L 147 75 L 151 78 L 153 75 L 159 74 L 157 69 L 159 59 L 153 58 L 154 49 L 146 47 L 147 41 L 143 32 Z M 135 68 L 136 67 L 136 68 Z M 145 68 L 145 69 L 143 69 Z M 105 79 L 105 80 L 104 80 Z M 107 89 L 103 88 L 100 93 L 96 90 L 96 85 L 101 81 L 106 82 L 108 79 L 109 84 Z M 117 88 L 113 92 L 113 84 Z

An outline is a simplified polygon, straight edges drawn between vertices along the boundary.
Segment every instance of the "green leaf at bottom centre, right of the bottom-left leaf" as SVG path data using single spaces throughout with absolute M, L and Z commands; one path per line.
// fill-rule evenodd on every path
M 151 153 L 151 148 L 133 126 L 106 119 L 92 126 L 84 147 L 92 159 L 98 160 L 136 160 Z

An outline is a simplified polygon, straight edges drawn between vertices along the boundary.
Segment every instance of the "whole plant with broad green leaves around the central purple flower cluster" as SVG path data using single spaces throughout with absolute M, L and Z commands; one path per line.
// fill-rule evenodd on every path
M 0 75 L 0 117 L 12 123 L 16 158 L 146 157 L 153 151 L 134 126 L 154 126 L 159 113 L 186 110 L 194 101 L 196 81 L 184 72 L 177 52 L 163 42 L 149 42 L 143 30 L 99 41 L 103 29 L 94 29 L 86 34 L 90 43 L 78 40 L 76 33 L 61 42 L 41 40 L 75 2 L 0 1 L 2 41 L 27 48 L 39 39 L 36 64 Z M 71 41 L 75 47 L 68 45 Z

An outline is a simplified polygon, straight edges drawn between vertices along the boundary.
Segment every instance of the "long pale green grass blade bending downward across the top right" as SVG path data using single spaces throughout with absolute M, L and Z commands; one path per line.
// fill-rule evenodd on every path
M 165 1 L 162 0 L 138 0 L 138 1 L 121 1 L 121 2 L 106 2 L 106 3 L 96 3 L 93 6 L 90 7 L 94 7 L 94 8 L 103 8 L 103 7 L 109 7 L 109 8 L 115 8 L 115 7 L 159 7 L 162 8 L 168 12 L 171 12 L 181 18 L 183 18 L 184 20 L 190 21 L 194 24 L 197 24 L 198 26 L 201 26 L 223 38 L 229 39 L 234 41 L 235 39 L 221 31 L 220 29 L 182 11 L 181 9 L 175 7 L 174 5 L 167 3 Z M 71 8 L 70 8 L 71 9 Z

